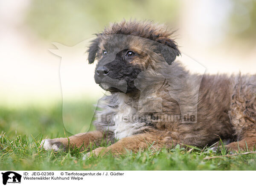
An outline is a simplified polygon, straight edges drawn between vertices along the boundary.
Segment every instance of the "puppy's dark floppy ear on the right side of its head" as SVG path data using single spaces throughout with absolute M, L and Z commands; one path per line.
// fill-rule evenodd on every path
M 177 43 L 169 38 L 159 39 L 157 42 L 160 52 L 162 53 L 167 64 L 171 65 L 177 56 L 180 55 Z

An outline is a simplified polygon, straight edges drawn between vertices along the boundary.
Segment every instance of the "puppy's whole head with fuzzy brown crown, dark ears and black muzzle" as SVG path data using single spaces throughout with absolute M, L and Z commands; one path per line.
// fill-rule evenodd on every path
M 99 61 L 95 82 L 111 92 L 137 91 L 134 80 L 149 64 L 153 69 L 171 65 L 180 55 L 172 33 L 150 21 L 122 21 L 105 28 L 88 49 L 89 63 Z

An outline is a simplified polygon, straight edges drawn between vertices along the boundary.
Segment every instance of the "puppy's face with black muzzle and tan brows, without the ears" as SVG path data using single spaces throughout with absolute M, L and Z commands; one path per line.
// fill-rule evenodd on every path
M 134 36 L 108 35 L 99 44 L 98 64 L 94 79 L 100 87 L 111 92 L 137 91 L 134 80 L 145 69 L 149 55 Z

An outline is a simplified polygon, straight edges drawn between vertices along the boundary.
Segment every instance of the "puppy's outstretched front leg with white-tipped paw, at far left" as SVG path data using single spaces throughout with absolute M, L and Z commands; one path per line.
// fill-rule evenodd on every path
M 91 131 L 87 133 L 80 133 L 76 134 L 74 136 L 71 136 L 69 138 L 55 138 L 55 139 L 44 139 L 41 142 L 41 145 L 44 146 L 45 150 L 54 150 L 58 151 L 60 149 L 66 149 L 69 145 L 71 148 L 74 148 L 75 146 L 80 148 L 81 151 L 84 150 L 84 148 L 87 148 L 90 145 L 90 142 L 100 142 L 102 140 L 103 132 L 101 131 Z

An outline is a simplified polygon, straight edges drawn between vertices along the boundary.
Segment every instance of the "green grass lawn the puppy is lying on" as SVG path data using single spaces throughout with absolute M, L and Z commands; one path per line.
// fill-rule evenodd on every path
M 87 103 L 86 108 L 83 114 L 91 116 L 92 104 Z M 90 123 L 90 119 L 86 122 Z M 179 145 L 161 151 L 149 147 L 137 154 L 108 154 L 82 160 L 86 152 L 77 149 L 53 152 L 40 148 L 42 138 L 64 137 L 65 133 L 61 105 L 0 108 L 0 170 L 256 170 L 256 154 L 204 159 L 226 155 L 225 149 L 216 153 L 210 148 L 184 149 Z

